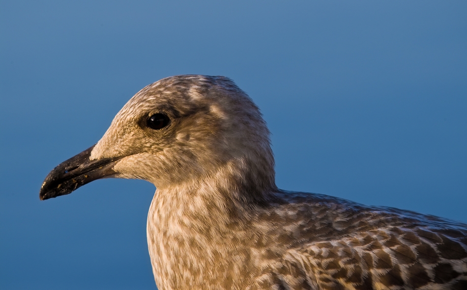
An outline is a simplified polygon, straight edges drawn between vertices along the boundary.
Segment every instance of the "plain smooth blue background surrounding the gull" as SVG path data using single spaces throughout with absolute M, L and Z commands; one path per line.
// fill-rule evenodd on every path
M 277 185 L 467 222 L 466 1 L 0 2 L 0 289 L 155 289 L 154 186 L 39 201 L 141 88 L 228 76 Z

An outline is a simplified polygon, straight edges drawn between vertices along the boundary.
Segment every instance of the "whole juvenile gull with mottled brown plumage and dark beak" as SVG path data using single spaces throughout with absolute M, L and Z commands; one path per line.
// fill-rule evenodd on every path
M 275 185 L 258 107 L 225 77 L 146 86 L 42 200 L 104 177 L 156 186 L 147 243 L 160 290 L 466 290 L 467 225 Z

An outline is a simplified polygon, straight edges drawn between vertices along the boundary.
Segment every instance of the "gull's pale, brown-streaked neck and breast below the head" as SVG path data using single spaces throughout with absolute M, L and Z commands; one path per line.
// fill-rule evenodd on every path
M 147 242 L 161 289 L 198 289 L 196 281 L 223 280 L 213 269 L 228 268 L 222 263 L 232 257 L 248 260 L 242 256 L 247 251 L 240 249 L 245 242 L 232 241 L 251 236 L 245 234 L 251 216 L 270 202 L 275 185 L 258 191 L 261 183 L 245 186 L 251 181 L 244 174 L 232 177 L 228 172 L 235 171 L 224 168 L 196 182 L 157 188 L 147 217 Z M 242 264 L 252 272 L 250 267 Z

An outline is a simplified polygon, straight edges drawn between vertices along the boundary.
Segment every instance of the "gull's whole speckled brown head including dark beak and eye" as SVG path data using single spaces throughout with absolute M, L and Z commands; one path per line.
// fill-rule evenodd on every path
M 275 186 L 262 114 L 228 78 L 175 76 L 131 98 L 97 144 L 49 173 L 40 198 L 100 178 L 142 179 L 163 188 L 216 176 L 253 186 L 252 192 Z

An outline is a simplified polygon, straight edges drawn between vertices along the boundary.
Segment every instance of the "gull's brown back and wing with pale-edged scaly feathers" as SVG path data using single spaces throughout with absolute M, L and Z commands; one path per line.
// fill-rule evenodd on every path
M 277 289 L 467 289 L 463 223 L 318 194 L 284 200 L 271 212 L 292 241 L 272 269 Z

